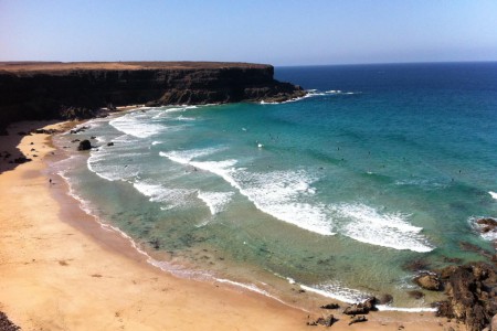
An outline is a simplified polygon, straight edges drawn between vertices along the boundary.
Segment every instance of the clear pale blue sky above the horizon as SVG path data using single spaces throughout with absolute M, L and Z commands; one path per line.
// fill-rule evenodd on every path
M 0 61 L 497 61 L 497 0 L 0 0 Z

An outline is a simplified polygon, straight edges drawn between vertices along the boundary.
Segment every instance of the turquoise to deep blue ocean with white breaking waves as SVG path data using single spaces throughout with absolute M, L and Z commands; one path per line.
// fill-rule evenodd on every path
M 497 233 L 475 220 L 497 217 L 497 63 L 276 67 L 275 78 L 308 95 L 93 119 L 55 138 L 67 158 L 52 171 L 151 264 L 293 306 L 390 295 L 382 309 L 429 310 L 441 295 L 411 297 L 410 265 L 494 252 Z M 95 148 L 76 152 L 89 137 Z

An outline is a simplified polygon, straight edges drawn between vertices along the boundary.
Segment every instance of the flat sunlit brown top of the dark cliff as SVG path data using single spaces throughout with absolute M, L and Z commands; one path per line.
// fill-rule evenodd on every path
M 240 62 L 0 62 L 0 72 L 60 73 L 66 71 L 267 68 L 267 64 Z

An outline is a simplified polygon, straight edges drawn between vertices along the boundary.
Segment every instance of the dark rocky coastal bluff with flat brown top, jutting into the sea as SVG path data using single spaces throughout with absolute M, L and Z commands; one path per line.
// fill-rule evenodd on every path
M 0 62 L 0 134 L 13 121 L 89 118 L 103 107 L 284 102 L 304 96 L 265 64 Z

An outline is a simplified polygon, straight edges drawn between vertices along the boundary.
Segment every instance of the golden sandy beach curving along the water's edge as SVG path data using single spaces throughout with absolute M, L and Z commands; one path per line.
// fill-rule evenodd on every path
M 70 126 L 18 122 L 0 137 L 0 152 L 13 159 L 17 147 L 32 158 L 14 169 L 3 157 L 0 164 L 0 311 L 22 330 L 313 330 L 306 322 L 329 313 L 338 319 L 331 330 L 464 330 L 432 312 L 372 312 L 368 322 L 348 325 L 341 310 L 306 312 L 149 265 L 49 174 L 46 161 L 60 153 L 50 135 L 17 135 Z

